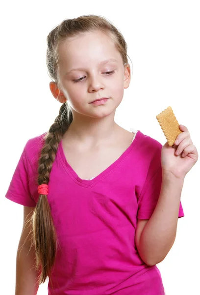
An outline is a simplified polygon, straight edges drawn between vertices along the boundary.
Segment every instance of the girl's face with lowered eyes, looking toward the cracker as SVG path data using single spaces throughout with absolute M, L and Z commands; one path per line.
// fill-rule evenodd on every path
M 124 66 L 107 35 L 96 31 L 68 38 L 60 42 L 58 56 L 60 90 L 73 113 L 100 118 L 119 106 L 130 83 L 130 66 Z M 102 97 L 109 98 L 105 104 L 91 104 Z

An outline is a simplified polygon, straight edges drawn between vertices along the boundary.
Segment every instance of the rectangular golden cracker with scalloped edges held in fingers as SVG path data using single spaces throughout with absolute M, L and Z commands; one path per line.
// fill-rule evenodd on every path
M 158 120 L 165 134 L 169 146 L 172 147 L 178 134 L 182 133 L 182 131 L 179 129 L 179 124 L 175 118 L 172 107 L 165 109 L 156 116 L 156 119 Z

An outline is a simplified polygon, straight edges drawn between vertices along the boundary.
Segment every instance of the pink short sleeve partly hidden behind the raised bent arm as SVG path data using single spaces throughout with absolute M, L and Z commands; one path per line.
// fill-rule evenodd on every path
M 161 190 L 162 183 L 162 166 L 156 170 L 151 177 L 147 177 L 141 194 L 138 198 L 138 219 L 150 219 Z M 178 218 L 183 217 L 184 212 L 180 202 Z

